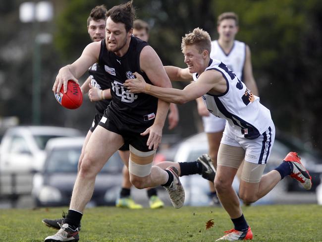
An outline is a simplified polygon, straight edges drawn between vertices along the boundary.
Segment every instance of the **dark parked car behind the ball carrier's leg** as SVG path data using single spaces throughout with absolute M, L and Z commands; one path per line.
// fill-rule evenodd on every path
M 67 206 L 77 176 L 84 137 L 53 138 L 46 146 L 41 172 L 35 174 L 32 196 L 37 206 Z M 121 158 L 116 152 L 97 175 L 88 206 L 115 205 L 122 182 Z

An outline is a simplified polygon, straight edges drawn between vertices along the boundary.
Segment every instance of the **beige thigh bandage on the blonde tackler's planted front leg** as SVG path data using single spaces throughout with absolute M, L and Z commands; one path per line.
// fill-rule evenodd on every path
M 218 149 L 217 166 L 226 166 L 238 169 L 245 158 L 242 147 L 220 144 Z

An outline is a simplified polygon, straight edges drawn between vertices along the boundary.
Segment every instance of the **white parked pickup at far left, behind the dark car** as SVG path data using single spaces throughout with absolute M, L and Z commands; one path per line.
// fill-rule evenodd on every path
M 74 128 L 55 126 L 15 126 L 4 133 L 0 145 L 0 172 L 26 173 L 39 170 L 45 146 L 54 137 L 81 136 Z

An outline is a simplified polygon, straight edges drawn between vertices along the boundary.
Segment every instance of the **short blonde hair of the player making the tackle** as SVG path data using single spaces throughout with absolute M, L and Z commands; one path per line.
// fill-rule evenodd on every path
M 181 50 L 188 45 L 196 45 L 196 48 L 200 54 L 206 50 L 208 51 L 208 55 L 210 55 L 212 50 L 212 41 L 210 35 L 207 31 L 200 28 L 195 28 L 192 33 L 190 32 L 182 37 Z

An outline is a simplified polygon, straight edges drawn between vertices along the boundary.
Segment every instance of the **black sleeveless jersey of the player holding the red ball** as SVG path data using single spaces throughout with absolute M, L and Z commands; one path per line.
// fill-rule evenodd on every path
M 99 64 L 104 67 L 111 84 L 112 101 L 107 108 L 121 122 L 130 125 L 152 125 L 156 116 L 158 99 L 145 93 L 131 93 L 123 85 L 125 80 L 135 78 L 134 72 L 140 73 L 147 83 L 148 76 L 140 69 L 140 53 L 149 44 L 134 36 L 127 53 L 118 57 L 107 51 L 105 39 L 101 41 Z

